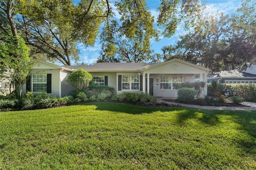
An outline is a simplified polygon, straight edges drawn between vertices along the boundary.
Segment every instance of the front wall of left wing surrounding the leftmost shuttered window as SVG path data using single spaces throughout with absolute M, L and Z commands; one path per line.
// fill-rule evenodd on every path
M 47 94 L 60 97 L 60 69 L 32 69 L 31 74 L 52 74 L 52 93 Z M 32 84 L 32 79 L 30 81 Z M 26 83 L 23 85 L 22 90 L 26 92 Z

